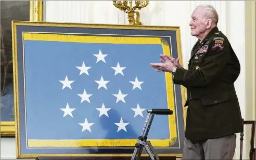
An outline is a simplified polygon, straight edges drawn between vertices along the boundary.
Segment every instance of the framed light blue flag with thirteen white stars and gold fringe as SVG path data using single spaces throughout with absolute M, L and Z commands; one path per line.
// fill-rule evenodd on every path
M 155 115 L 148 140 L 181 156 L 185 89 L 149 65 L 182 59 L 179 27 L 13 21 L 12 33 L 17 157 L 131 156 L 151 109 L 173 114 Z

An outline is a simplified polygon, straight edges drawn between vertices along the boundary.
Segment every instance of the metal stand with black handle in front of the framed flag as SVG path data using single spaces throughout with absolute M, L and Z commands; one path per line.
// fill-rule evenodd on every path
M 148 131 L 150 129 L 150 126 L 152 124 L 153 117 L 155 114 L 170 115 L 172 113 L 173 113 L 173 111 L 171 111 L 169 109 L 148 110 L 148 115 L 147 115 L 146 121 L 144 123 L 142 132 L 140 133 L 137 143 L 135 144 L 135 150 L 133 152 L 132 160 L 139 159 L 144 148 L 146 149 L 147 153 L 149 154 L 149 156 L 152 160 L 154 160 L 154 159 L 159 160 L 157 152 L 154 150 L 150 141 L 147 140 Z

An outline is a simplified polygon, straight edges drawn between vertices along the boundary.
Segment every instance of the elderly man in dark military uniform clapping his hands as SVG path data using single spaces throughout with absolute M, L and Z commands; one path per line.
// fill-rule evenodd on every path
M 188 70 L 178 58 L 165 55 L 160 55 L 161 63 L 150 63 L 157 71 L 172 73 L 174 84 L 187 88 L 183 159 L 232 159 L 235 134 L 243 131 L 234 88 L 240 64 L 217 22 L 212 6 L 200 5 L 194 10 L 189 25 L 198 41 Z

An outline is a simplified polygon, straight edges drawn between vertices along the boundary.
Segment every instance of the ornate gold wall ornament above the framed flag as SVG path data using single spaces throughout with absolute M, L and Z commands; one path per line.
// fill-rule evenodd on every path
M 141 10 L 142 8 L 148 5 L 148 1 L 135 1 L 135 6 L 133 7 L 133 2 L 129 1 L 113 1 L 113 5 L 120 10 L 124 11 L 128 14 L 128 21 L 130 25 L 142 25 L 142 22 L 139 21 L 139 12 L 135 11 L 136 9 Z M 136 21 L 134 18 L 134 14 L 136 14 Z

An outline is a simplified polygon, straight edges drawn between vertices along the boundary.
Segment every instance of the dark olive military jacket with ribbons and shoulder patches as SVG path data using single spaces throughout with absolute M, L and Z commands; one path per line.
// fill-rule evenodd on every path
M 186 133 L 206 140 L 243 131 L 234 82 L 240 63 L 227 37 L 217 27 L 191 51 L 188 70 L 176 69 L 174 84 L 187 88 Z

